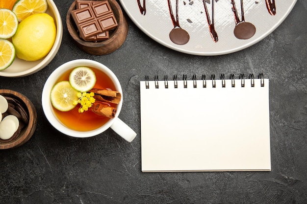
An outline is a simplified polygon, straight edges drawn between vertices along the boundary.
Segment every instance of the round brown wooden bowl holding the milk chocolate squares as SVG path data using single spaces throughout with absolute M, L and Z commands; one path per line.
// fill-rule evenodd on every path
M 93 55 L 109 54 L 117 50 L 126 40 L 128 34 L 128 23 L 123 11 L 116 0 L 108 1 L 115 15 L 118 26 L 116 29 L 109 31 L 110 38 L 105 41 L 88 42 L 80 38 L 76 23 L 71 15 L 71 12 L 76 9 L 76 1 L 74 1 L 68 9 L 66 16 L 67 29 L 75 40 L 77 46 L 84 52 Z

